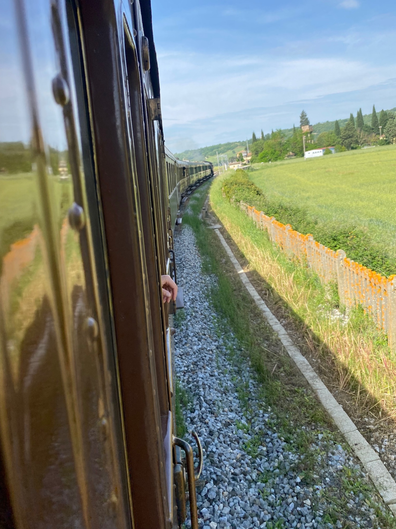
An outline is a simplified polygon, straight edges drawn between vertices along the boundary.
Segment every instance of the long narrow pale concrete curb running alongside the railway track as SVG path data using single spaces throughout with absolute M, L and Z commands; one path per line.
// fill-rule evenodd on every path
M 300 353 L 298 348 L 291 341 L 284 327 L 280 324 L 277 318 L 272 314 L 267 305 L 263 302 L 257 290 L 249 281 L 246 273 L 244 273 L 241 265 L 235 259 L 229 245 L 225 242 L 224 237 L 219 230 L 214 226 L 214 231 L 218 234 L 219 239 L 227 252 L 232 264 L 237 270 L 243 285 L 248 290 L 251 297 L 256 302 L 256 305 L 261 309 L 268 323 L 272 329 L 278 334 L 280 341 L 284 345 L 291 359 L 294 360 L 298 369 L 304 375 L 308 384 L 314 389 L 320 402 L 326 409 L 327 413 L 332 417 L 340 432 L 344 435 L 346 442 L 351 446 L 357 458 L 362 462 L 367 474 L 372 479 L 375 487 L 378 489 L 385 505 L 389 505 L 392 513 L 396 515 L 396 482 L 384 466 L 378 453 L 376 453 L 369 443 L 364 439 L 363 435 L 357 430 L 356 425 L 351 418 L 345 413 L 342 406 L 337 403 L 336 399 L 323 384 L 315 370 L 312 368 L 308 360 Z

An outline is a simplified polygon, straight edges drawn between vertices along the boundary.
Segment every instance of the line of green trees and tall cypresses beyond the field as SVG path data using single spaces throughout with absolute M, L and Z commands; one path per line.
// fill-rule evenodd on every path
M 301 126 L 309 125 L 307 113 L 303 110 L 300 114 L 300 126 L 293 125 L 293 134 L 286 134 L 279 130 L 272 130 L 270 134 L 264 134 L 257 138 L 252 134 L 251 162 L 270 162 L 284 159 L 288 154 L 296 157 L 304 156 L 303 135 L 305 135 L 306 150 L 334 147 L 336 152 L 351 149 L 360 149 L 364 145 L 386 145 L 396 143 L 396 116 L 392 112 L 382 110 L 378 116 L 373 105 L 371 124 L 364 123 L 362 109 L 357 111 L 356 118 L 351 113 L 344 127 L 335 121 L 334 130 L 322 132 L 315 138 L 312 132 L 304 132 Z M 330 150 L 325 154 L 331 154 Z

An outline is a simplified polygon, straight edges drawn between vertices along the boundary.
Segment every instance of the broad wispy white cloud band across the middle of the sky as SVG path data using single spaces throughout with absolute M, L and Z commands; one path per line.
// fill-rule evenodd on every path
M 276 60 L 250 55 L 230 59 L 172 52 L 158 53 L 158 61 L 162 112 L 168 126 L 359 90 L 393 77 L 395 71 L 395 65 L 344 58 Z

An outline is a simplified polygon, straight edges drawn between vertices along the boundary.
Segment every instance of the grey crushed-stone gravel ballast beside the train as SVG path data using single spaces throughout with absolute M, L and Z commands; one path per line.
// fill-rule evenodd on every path
M 215 278 L 201 273 L 189 226 L 176 233 L 175 246 L 185 307 L 185 318 L 178 317 L 176 323 L 176 374 L 191 400 L 184 410 L 187 428 L 196 430 L 204 450 L 197 487 L 200 527 L 379 527 L 373 505 L 359 487 L 346 490 L 346 512 L 337 513 L 338 521 L 329 516 L 334 505 L 327 489 L 341 488 L 345 472 L 366 487 L 363 492 L 371 486 L 327 430 L 316 433 L 310 446 L 316 484 L 303 485 L 299 461 L 307 454 L 290 451 L 278 436 L 277 417 L 260 400 L 256 375 L 241 360 L 238 343 L 231 332 L 219 336 L 208 297 Z

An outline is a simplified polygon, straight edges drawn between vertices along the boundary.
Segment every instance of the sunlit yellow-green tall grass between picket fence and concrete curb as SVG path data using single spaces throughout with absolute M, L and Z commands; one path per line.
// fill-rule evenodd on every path
M 332 289 L 325 289 L 315 275 L 289 261 L 275 248 L 265 232 L 222 197 L 222 178 L 214 180 L 211 206 L 234 243 L 248 261 L 270 303 L 286 320 L 293 321 L 304 336 L 303 345 L 322 362 L 323 376 L 333 389 L 353 395 L 363 413 L 381 407 L 396 418 L 396 358 L 386 336 L 359 309 L 347 322 L 337 308 Z M 278 315 L 279 317 L 279 315 Z

